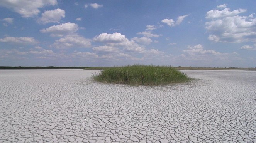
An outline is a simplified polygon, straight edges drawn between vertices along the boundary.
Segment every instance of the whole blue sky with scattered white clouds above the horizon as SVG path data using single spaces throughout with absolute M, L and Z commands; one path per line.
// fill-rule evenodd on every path
M 256 0 L 0 0 L 0 66 L 256 67 Z

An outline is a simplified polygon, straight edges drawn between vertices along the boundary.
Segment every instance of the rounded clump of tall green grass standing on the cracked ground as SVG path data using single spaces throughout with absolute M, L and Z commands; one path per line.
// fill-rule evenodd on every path
M 128 85 L 166 85 L 184 83 L 191 80 L 187 75 L 173 67 L 153 65 L 128 65 L 111 67 L 93 76 L 94 80 L 103 83 Z

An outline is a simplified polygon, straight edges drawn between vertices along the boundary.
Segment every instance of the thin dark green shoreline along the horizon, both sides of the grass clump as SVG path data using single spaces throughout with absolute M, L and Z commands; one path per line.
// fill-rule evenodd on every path
M 85 70 L 104 70 L 109 67 L 23 67 L 23 66 L 0 66 L 0 69 L 85 69 Z M 256 68 L 237 68 L 237 67 L 228 67 L 228 68 L 219 68 L 219 67 L 173 67 L 178 70 L 256 70 Z

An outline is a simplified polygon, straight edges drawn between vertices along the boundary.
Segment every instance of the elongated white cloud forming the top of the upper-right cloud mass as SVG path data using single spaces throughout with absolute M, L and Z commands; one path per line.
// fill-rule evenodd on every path
M 207 19 L 218 19 L 218 18 L 224 18 L 224 17 L 231 17 L 238 15 L 239 13 L 246 12 L 245 9 L 238 9 L 234 11 L 229 11 L 229 8 L 225 8 L 224 10 L 210 10 L 209 12 L 206 13 Z

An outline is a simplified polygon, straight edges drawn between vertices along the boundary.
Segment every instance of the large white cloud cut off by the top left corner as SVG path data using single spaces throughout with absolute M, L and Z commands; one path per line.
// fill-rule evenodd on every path
M 39 8 L 57 3 L 57 0 L 1 0 L 0 6 L 7 7 L 22 17 L 28 18 L 40 13 Z

